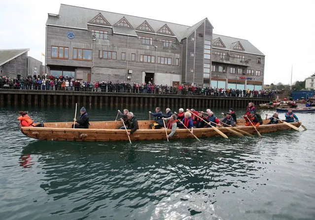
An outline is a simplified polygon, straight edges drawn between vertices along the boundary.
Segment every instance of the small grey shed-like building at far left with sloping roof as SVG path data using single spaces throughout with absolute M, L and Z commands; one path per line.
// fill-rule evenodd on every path
M 30 49 L 2 49 L 0 50 L 0 76 L 17 77 L 20 75 L 42 75 L 42 62 L 28 56 Z

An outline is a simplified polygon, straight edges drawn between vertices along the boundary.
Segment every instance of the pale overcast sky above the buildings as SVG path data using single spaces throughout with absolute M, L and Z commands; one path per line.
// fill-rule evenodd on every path
M 44 63 L 47 13 L 60 4 L 192 26 L 208 18 L 213 33 L 247 39 L 266 56 L 264 83 L 290 84 L 315 73 L 315 0 L 1 0 L 0 49 L 30 48 Z

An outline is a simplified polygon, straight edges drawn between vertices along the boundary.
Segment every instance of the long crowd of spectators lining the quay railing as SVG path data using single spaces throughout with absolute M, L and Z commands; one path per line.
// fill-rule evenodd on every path
M 2 76 L 0 88 L 27 89 L 27 90 L 61 90 L 61 91 L 86 91 L 86 92 L 113 92 L 113 93 L 151 93 L 151 94 L 178 94 L 178 95 L 204 95 L 204 96 L 230 96 L 230 97 L 261 97 L 274 98 L 281 90 L 241 90 L 231 88 L 212 88 L 193 85 L 157 85 L 151 82 L 130 83 L 112 81 L 84 81 L 75 80 L 68 76 L 29 75 L 23 78 L 10 78 Z

